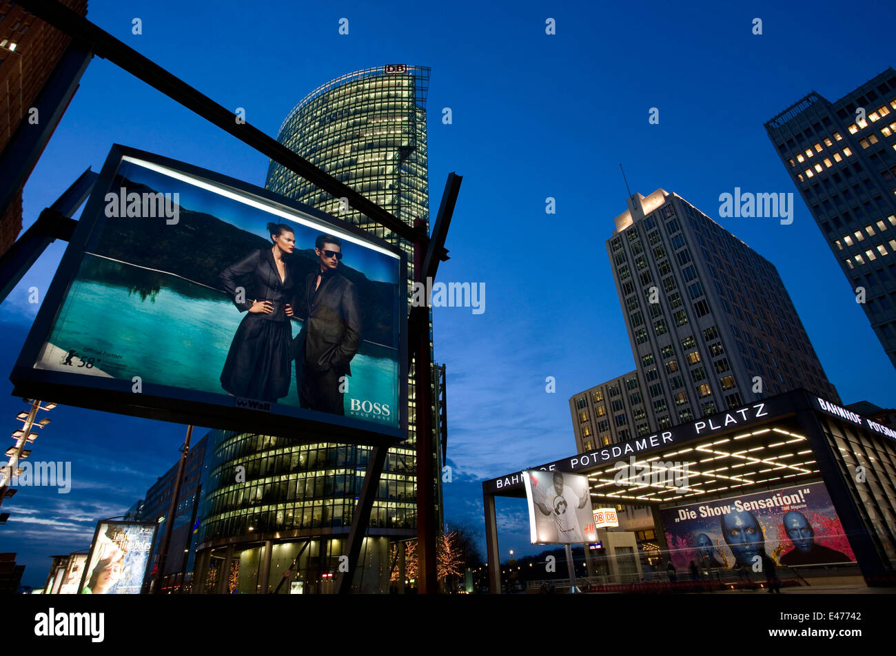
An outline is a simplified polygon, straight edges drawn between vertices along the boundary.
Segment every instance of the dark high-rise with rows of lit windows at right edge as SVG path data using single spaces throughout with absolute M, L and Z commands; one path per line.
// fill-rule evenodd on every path
M 896 366 L 896 71 L 833 102 L 812 91 L 765 129 Z

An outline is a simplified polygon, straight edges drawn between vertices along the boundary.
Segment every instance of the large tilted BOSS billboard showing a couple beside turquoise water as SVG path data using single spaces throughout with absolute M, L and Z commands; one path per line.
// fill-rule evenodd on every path
M 323 212 L 116 146 L 14 393 L 224 429 L 401 439 L 405 268 L 400 249 Z

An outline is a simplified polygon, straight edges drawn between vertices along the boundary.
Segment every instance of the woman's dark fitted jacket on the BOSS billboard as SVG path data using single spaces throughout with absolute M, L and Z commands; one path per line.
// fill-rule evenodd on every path
M 289 321 L 284 311 L 284 305 L 289 303 L 295 308 L 295 284 L 290 267 L 285 267 L 286 278 L 280 280 L 280 272 L 274 263 L 274 254 L 270 248 L 259 248 L 246 255 L 237 263 L 230 264 L 227 269 L 220 272 L 218 280 L 221 287 L 228 293 L 240 312 L 247 312 L 252 307 L 253 300 L 269 300 L 274 306 L 271 315 L 263 312 L 256 316 L 268 321 Z M 248 283 L 248 289 L 244 291 L 246 300 L 237 301 L 237 277 L 253 273 L 252 280 Z

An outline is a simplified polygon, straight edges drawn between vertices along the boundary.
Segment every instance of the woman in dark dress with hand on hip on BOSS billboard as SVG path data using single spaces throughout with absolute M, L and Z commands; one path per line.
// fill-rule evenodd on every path
M 276 402 L 289 392 L 294 284 L 286 258 L 296 247 L 287 225 L 269 223 L 271 248 L 259 248 L 220 272 L 221 286 L 240 312 L 246 312 L 233 336 L 221 386 L 232 396 Z M 252 273 L 248 289 L 237 278 Z

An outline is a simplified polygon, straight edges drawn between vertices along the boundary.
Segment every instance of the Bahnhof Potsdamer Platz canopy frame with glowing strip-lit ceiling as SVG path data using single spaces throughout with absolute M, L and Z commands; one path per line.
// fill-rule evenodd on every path
M 866 581 L 896 565 L 896 432 L 803 390 L 483 481 L 493 578 L 495 496 L 524 497 L 524 470 L 584 474 L 595 505 L 652 506 L 663 543 L 660 510 L 823 482 Z

